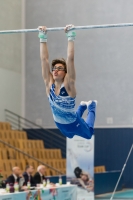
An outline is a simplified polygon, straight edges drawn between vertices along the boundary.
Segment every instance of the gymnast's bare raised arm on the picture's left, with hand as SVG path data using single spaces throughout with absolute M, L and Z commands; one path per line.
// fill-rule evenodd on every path
M 46 27 L 41 27 L 40 30 L 45 31 Z M 40 59 L 41 59 L 41 66 L 42 66 L 42 76 L 43 76 L 44 83 L 46 86 L 46 93 L 47 95 L 49 95 L 49 90 L 53 83 L 53 77 L 50 72 L 47 40 L 44 42 L 43 40 L 40 39 Z

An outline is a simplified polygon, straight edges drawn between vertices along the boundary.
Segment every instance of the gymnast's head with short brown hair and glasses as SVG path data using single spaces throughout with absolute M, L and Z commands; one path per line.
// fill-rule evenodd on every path
M 52 61 L 52 74 L 55 81 L 63 81 L 67 73 L 67 65 L 64 58 Z

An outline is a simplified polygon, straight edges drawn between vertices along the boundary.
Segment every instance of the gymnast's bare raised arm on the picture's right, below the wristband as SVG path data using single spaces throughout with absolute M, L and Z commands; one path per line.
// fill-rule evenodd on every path
M 76 96 L 75 88 L 75 67 L 74 67 L 74 41 L 68 41 L 67 48 L 67 74 L 64 79 L 64 85 L 67 88 L 67 91 L 71 97 Z

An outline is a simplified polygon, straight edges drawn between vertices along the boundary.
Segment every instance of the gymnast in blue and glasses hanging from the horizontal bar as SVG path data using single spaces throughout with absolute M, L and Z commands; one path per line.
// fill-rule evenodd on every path
M 78 135 L 90 139 L 94 133 L 97 101 L 81 101 L 77 111 L 75 110 L 74 40 L 76 32 L 74 26 L 67 25 L 65 27 L 68 38 L 67 61 L 63 58 L 53 60 L 52 72 L 50 71 L 47 48 L 47 27 L 39 26 L 38 29 L 42 76 L 55 124 L 68 138 Z M 86 121 L 84 121 L 82 115 L 86 109 L 88 114 Z

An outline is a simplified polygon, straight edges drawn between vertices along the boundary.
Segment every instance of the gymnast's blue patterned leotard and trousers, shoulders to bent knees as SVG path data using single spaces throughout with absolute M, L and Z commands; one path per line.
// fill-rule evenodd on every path
M 68 138 L 74 135 L 90 139 L 93 128 L 79 117 L 75 111 L 75 98 L 68 95 L 64 85 L 60 88 L 59 95 L 55 94 L 55 85 L 52 84 L 48 96 L 53 118 L 59 130 Z

